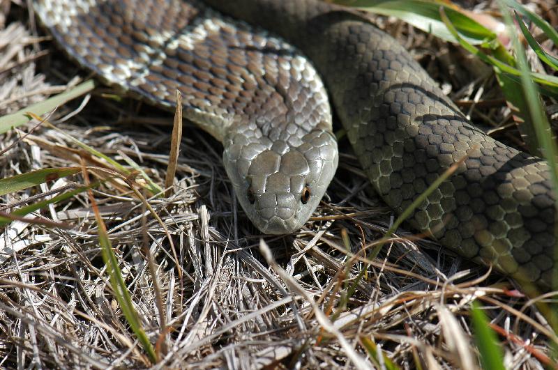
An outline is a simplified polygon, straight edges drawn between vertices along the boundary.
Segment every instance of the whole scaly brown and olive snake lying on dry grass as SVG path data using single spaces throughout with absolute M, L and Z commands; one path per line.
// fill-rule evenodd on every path
M 338 167 L 338 118 L 375 191 L 407 222 L 521 286 L 558 268 L 548 163 L 485 134 L 397 40 L 318 0 L 36 0 L 58 45 L 111 86 L 223 143 L 262 233 L 300 229 Z

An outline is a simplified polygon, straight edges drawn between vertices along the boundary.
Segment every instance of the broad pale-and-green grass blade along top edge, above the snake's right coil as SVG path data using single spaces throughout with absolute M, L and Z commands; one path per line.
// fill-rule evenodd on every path
M 446 13 L 460 33 L 467 38 L 469 43 L 478 45 L 486 40 L 496 38 L 495 33 L 485 28 L 457 7 L 448 5 L 439 0 L 337 0 L 345 6 L 363 8 L 372 13 L 398 17 L 400 20 L 412 24 L 417 29 L 432 33 L 443 40 L 455 42 L 454 36 L 448 32 L 444 22 L 440 19 L 439 8 L 444 7 Z

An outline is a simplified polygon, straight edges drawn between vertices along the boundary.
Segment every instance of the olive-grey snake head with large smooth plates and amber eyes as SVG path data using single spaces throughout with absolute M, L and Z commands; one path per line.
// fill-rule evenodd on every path
M 288 124 L 264 134 L 252 123 L 229 131 L 223 142 L 236 197 L 262 233 L 299 230 L 337 169 L 337 142 L 328 127 Z

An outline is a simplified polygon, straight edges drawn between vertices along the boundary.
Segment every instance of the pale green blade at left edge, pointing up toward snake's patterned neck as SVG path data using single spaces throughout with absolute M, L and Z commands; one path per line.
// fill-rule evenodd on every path
M 20 109 L 13 114 L 8 114 L 6 116 L 0 117 L 0 134 L 8 132 L 13 128 L 16 128 L 17 126 L 24 125 L 25 123 L 29 122 L 29 112 L 38 116 L 42 116 L 43 114 L 52 111 L 56 107 L 59 107 L 60 105 L 69 102 L 70 100 L 89 93 L 89 91 L 93 90 L 93 88 L 95 88 L 95 82 L 90 79 L 89 81 L 75 86 L 69 91 L 54 95 L 51 98 L 44 100 L 43 102 L 38 102 L 24 109 Z

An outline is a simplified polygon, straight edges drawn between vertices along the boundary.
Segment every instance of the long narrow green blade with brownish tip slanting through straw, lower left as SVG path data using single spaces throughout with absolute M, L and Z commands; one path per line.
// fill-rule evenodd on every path
M 84 178 L 87 178 L 85 169 Z M 156 363 L 158 360 L 158 356 L 155 349 L 153 348 L 153 345 L 151 344 L 151 341 L 149 341 L 149 337 L 147 337 L 147 334 L 142 327 L 140 318 L 137 315 L 137 311 L 133 306 L 132 299 L 130 298 L 130 293 L 128 292 L 128 286 L 126 286 L 126 282 L 124 282 L 124 279 L 122 277 L 118 259 L 116 259 L 114 250 L 112 250 L 112 243 L 110 242 L 110 238 L 107 233 L 107 227 L 105 226 L 103 217 L 100 215 L 97 203 L 91 190 L 89 190 L 89 200 L 91 201 L 91 207 L 93 208 L 93 213 L 95 213 L 95 218 L 98 224 L 98 237 L 101 247 L 101 254 L 103 255 L 103 261 L 105 261 L 105 265 L 107 266 L 110 286 L 112 287 L 112 291 L 114 292 L 116 301 L 119 303 L 122 314 L 124 315 L 124 317 L 126 317 L 126 321 L 128 321 L 128 324 L 130 325 L 130 329 L 135 333 L 137 339 L 140 341 L 142 347 L 149 356 L 149 360 L 151 360 L 151 362 L 153 363 Z

